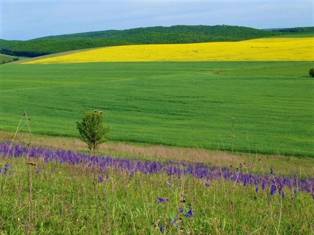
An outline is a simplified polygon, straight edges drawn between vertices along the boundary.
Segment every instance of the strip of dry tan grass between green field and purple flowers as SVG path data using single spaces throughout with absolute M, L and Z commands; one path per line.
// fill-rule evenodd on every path
M 13 134 L 0 131 L 0 141 L 10 141 Z M 25 133 L 19 133 L 16 142 L 26 143 Z M 76 138 L 33 136 L 32 145 L 44 148 L 67 149 L 72 151 L 86 151 L 86 145 Z M 295 156 L 260 155 L 256 153 L 206 150 L 198 148 L 181 148 L 159 146 L 140 143 L 108 142 L 100 146 L 99 152 L 110 156 L 143 158 L 150 160 L 172 160 L 211 163 L 214 165 L 242 166 L 250 172 L 265 172 L 273 168 L 275 172 L 289 173 L 300 172 L 304 175 L 313 175 L 314 159 L 298 158 Z

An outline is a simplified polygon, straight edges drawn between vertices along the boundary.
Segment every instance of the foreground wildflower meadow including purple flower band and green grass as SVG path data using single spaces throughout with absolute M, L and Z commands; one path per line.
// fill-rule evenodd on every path
M 236 156 L 234 167 L 108 155 L 94 164 L 95 155 L 10 142 L 0 154 L 2 234 L 314 232 L 313 174 L 259 173 Z

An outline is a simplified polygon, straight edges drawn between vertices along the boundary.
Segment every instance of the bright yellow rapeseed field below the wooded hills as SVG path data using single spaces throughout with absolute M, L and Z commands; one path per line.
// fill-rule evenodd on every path
M 104 47 L 25 64 L 140 61 L 314 61 L 314 38 Z

